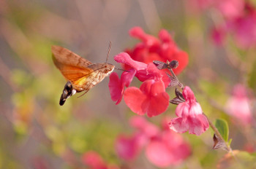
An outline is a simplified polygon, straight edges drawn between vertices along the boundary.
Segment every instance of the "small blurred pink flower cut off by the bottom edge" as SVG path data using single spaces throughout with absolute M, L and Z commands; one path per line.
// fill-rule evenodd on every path
M 116 165 L 107 165 L 97 152 L 90 151 L 83 154 L 81 158 L 84 165 L 90 169 L 118 169 Z

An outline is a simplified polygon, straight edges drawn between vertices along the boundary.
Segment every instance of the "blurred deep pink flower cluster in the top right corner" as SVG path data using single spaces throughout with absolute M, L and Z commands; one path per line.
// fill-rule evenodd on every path
M 202 6 L 200 0 L 190 2 Z M 249 1 L 207 0 L 203 2 L 203 9 L 214 9 L 222 15 L 222 22 L 211 31 L 216 44 L 222 44 L 229 33 L 242 49 L 256 46 L 256 9 Z

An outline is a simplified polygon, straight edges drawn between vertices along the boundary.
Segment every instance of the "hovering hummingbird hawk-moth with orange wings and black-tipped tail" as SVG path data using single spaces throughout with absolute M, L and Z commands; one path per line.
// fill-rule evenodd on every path
M 67 79 L 59 100 L 61 106 L 64 105 L 67 98 L 75 95 L 75 93 L 84 91 L 83 95 L 86 94 L 92 87 L 102 82 L 115 68 L 110 63 L 91 63 L 64 47 L 52 46 L 51 50 L 53 63 Z

